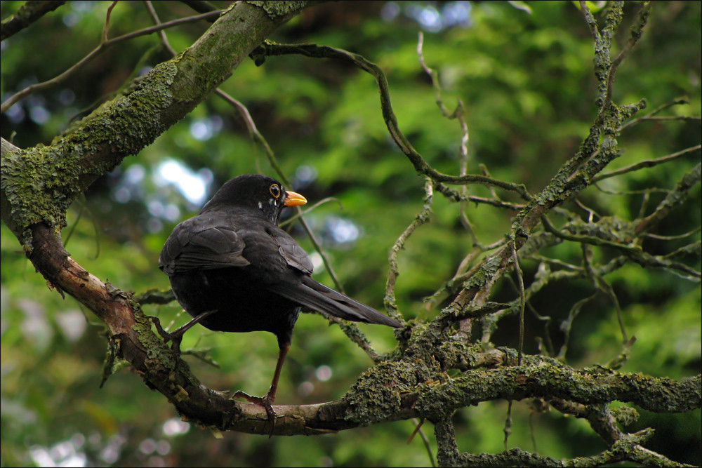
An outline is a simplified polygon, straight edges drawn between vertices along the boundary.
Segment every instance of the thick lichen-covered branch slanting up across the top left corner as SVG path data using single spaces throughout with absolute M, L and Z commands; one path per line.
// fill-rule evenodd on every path
M 2 154 L 3 220 L 29 246 L 25 230 L 48 222 L 65 225 L 72 201 L 124 157 L 137 154 L 204 100 L 265 37 L 307 2 L 237 2 L 177 58 L 135 80 L 72 134 L 53 145 Z M 15 155 L 8 158 L 6 156 Z

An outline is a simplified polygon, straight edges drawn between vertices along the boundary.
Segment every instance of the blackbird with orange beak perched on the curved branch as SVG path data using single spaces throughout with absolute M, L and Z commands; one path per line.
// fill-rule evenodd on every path
M 375 309 L 314 281 L 312 262 L 298 243 L 278 227 L 286 206 L 307 203 L 265 175 L 239 175 L 226 182 L 204 208 L 181 222 L 161 250 L 159 268 L 171 280 L 176 300 L 194 318 L 173 333 L 180 343 L 195 323 L 210 330 L 267 331 L 278 340 L 278 361 L 268 392 L 235 393 L 265 408 L 275 424 L 272 403 L 291 344 L 300 306 L 350 321 L 402 324 Z

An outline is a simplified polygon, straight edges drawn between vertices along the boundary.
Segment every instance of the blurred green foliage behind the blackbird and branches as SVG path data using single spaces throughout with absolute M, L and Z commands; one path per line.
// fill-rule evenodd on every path
M 20 1 L 3 1 L 1 18 Z M 433 166 L 458 173 L 461 128 L 442 118 L 430 79 L 418 64 L 423 53 L 439 72 L 442 98 L 465 105 L 470 140 L 468 172 L 484 164 L 501 180 L 523 182 L 531 193 L 575 154 L 595 116 L 592 39 L 576 2 L 354 1 L 309 8 L 270 39 L 314 42 L 364 55 L 388 76 L 399 126 Z M 588 2 L 602 18 L 607 2 Z M 227 2 L 213 2 L 225 8 Z M 98 45 L 110 2 L 69 1 L 2 42 L 3 100 L 31 83 L 69 68 Z M 625 6 L 617 44 L 640 4 Z M 161 21 L 194 12 L 178 2 L 154 2 Z M 656 2 L 644 36 L 619 68 L 614 101 L 645 98 L 649 112 L 687 98 L 663 114 L 700 115 L 701 3 Z M 119 2 L 110 37 L 152 25 L 142 2 Z M 204 23 L 168 29 L 182 51 L 204 32 Z M 72 119 L 111 98 L 135 74 L 167 60 L 156 35 L 110 48 L 62 86 L 22 100 L 1 116 L 3 138 L 19 147 L 50 145 Z M 222 88 L 241 100 L 267 138 L 292 188 L 310 204 L 333 197 L 306 215 L 347 293 L 383 309 L 388 250 L 419 212 L 423 180 L 393 145 L 380 115 L 378 93 L 368 74 L 345 63 L 300 56 L 268 58 L 261 67 L 243 62 Z M 643 121 L 623 131 L 623 153 L 611 168 L 660 157 L 700 142 L 699 121 Z M 611 178 L 590 187 L 581 201 L 599 215 L 636 218 L 651 187 L 670 189 L 700 158 L 695 152 L 673 163 Z M 117 288 L 143 293 L 168 287 L 157 259 L 177 222 L 199 210 L 226 180 L 241 173 L 274 175 L 265 153 L 252 142 L 236 109 L 212 95 L 140 154 L 128 157 L 74 203 L 63 237 L 67 250 L 88 271 Z M 470 193 L 489 196 L 484 187 Z M 611 192 L 616 192 L 612 194 Z M 500 193 L 505 200 L 518 201 Z M 649 210 L 665 195 L 651 192 Z M 700 187 L 655 234 L 673 236 L 700 225 Z M 585 216 L 573 203 L 566 206 Z M 492 243 L 508 231 L 512 212 L 469 206 L 478 240 Z M 291 227 L 309 252 L 310 242 Z M 668 252 L 699 239 L 651 239 L 648 248 Z M 647 241 L 648 242 L 648 241 Z M 453 276 L 472 244 L 458 206 L 435 194 L 431 222 L 420 227 L 399 256 L 397 298 L 408 319 L 428 319 L 439 305 L 423 301 Z M 410 421 L 319 437 L 222 434 L 181 422 L 161 394 L 124 368 L 98 388 L 105 357 L 104 327 L 72 298 L 46 287 L 1 228 L 2 466 L 430 466 L 420 437 L 405 442 Z M 579 264 L 578 246 L 564 243 L 543 252 Z M 606 261 L 606 250 L 595 250 Z M 317 255 L 313 255 L 319 263 Z M 699 258 L 687 259 L 700 268 Z M 527 284 L 536 263 L 524 262 Z M 316 278 L 331 284 L 322 266 Z M 699 283 L 671 272 L 627 266 L 607 275 L 621 302 L 630 335 L 638 340 L 624 371 L 680 378 L 701 368 Z M 587 281 L 551 284 L 531 301 L 552 317 L 550 328 L 527 314 L 527 352 L 549 333 L 563 342 L 559 325 L 575 300 L 592 291 Z M 511 300 L 509 282 L 496 300 Z M 175 304 L 145 312 L 185 323 Z M 391 330 L 362 326 L 379 352 L 394 346 Z M 505 319 L 494 344 L 515 347 L 517 324 Z M 566 356 L 573 366 L 607 363 L 620 351 L 614 309 L 606 298 L 590 302 L 576 317 Z M 273 335 L 224 334 L 197 328 L 184 348 L 206 349 L 219 368 L 187 357 L 204 385 L 263 394 L 276 357 Z M 329 401 L 343 396 L 371 362 L 335 326 L 320 316 L 300 316 L 278 391 L 278 403 Z M 496 401 L 456 413 L 458 448 L 473 453 L 503 450 L 507 403 Z M 651 426 L 649 448 L 680 462 L 701 464 L 700 411 L 682 415 L 643 412 L 627 429 Z M 435 452 L 432 425 L 428 443 Z M 534 447 L 536 442 L 536 448 Z M 536 413 L 515 403 L 508 445 L 550 457 L 592 455 L 604 444 L 588 425 L 559 413 Z

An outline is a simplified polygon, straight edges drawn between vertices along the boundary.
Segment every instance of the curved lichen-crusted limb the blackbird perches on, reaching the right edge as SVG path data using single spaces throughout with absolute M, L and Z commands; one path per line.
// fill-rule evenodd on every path
M 170 349 L 152 333 L 150 322 L 143 318 L 131 295 L 103 283 L 77 265 L 51 227 L 38 224 L 32 226 L 32 231 L 34 246 L 29 259 L 39 272 L 53 287 L 76 297 L 105 321 L 123 359 L 131 363 L 147 385 L 167 396 L 180 415 L 205 427 L 258 434 L 265 431 L 267 415 L 263 408 L 232 401 L 224 392 L 203 387 L 182 362 L 176 368 Z M 418 339 L 415 345 L 421 344 L 421 336 Z M 445 341 L 433 353 L 440 359 L 438 368 L 416 359 L 416 353 L 374 366 L 341 401 L 276 406 L 278 422 L 274 434 L 324 434 L 359 424 L 432 418 L 451 408 L 493 399 L 557 396 L 582 404 L 618 400 L 656 412 L 686 411 L 701 405 L 699 376 L 676 381 L 574 370 L 557 361 L 530 356 L 525 356 L 524 366 L 505 367 L 505 363 L 515 360 L 514 352 L 485 353 L 479 347 L 451 341 Z M 439 383 L 435 379 L 444 368 L 462 368 L 465 373 Z M 423 374 L 429 380 L 418 378 Z

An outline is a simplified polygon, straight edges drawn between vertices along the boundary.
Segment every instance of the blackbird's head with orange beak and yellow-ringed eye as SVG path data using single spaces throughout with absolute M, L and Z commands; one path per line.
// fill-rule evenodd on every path
M 225 182 L 200 213 L 226 207 L 260 210 L 267 220 L 277 225 L 283 208 L 305 203 L 307 199 L 304 196 L 287 191 L 274 178 L 244 174 Z

